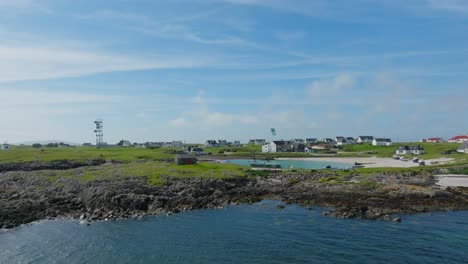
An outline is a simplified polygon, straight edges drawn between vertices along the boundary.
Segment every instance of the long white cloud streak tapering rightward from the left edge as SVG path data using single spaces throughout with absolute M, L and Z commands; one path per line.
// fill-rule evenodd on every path
M 0 82 L 41 80 L 114 71 L 190 68 L 202 61 L 178 58 L 129 57 L 71 48 L 0 45 Z

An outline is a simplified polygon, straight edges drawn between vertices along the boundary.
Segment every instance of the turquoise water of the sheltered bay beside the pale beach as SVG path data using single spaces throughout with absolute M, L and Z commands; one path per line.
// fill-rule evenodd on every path
M 293 166 L 295 169 L 323 169 L 326 166 L 331 166 L 334 169 L 347 169 L 353 167 L 351 164 L 339 163 L 339 162 L 328 162 L 328 161 L 312 161 L 312 160 L 248 160 L 248 159 L 233 159 L 227 160 L 227 163 L 236 164 L 240 166 L 250 166 L 252 163 L 255 164 L 280 164 L 283 169 L 288 169 Z

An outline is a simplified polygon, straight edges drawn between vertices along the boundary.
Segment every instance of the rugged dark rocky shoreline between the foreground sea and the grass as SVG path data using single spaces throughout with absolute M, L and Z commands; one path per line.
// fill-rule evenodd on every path
M 468 189 L 435 186 L 430 173 L 383 173 L 366 176 L 320 171 L 263 172 L 229 179 L 165 178 L 162 186 L 144 177 L 88 182 L 60 181 L 33 172 L 0 173 L 0 228 L 66 217 L 83 223 L 139 218 L 266 198 L 303 206 L 335 208 L 324 212 L 339 218 L 399 220 L 395 215 L 440 210 L 468 210 Z

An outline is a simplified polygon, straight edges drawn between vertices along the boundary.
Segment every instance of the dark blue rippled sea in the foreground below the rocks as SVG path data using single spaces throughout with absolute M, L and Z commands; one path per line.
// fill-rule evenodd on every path
M 0 263 L 468 263 L 468 212 L 394 223 L 278 204 L 91 226 L 42 221 L 0 233 Z

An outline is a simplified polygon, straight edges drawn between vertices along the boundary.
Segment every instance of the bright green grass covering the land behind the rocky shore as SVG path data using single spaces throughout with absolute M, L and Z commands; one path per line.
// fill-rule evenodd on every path
M 456 143 L 403 143 L 394 144 L 393 146 L 371 146 L 371 145 L 348 145 L 345 146 L 337 156 L 353 157 L 353 156 L 377 156 L 377 157 L 392 157 L 395 150 L 400 145 L 415 145 L 421 144 L 426 154 L 419 156 L 421 159 L 435 158 L 453 158 L 455 162 L 451 165 L 466 165 L 468 164 L 468 155 L 463 153 L 452 153 L 450 155 L 442 155 L 442 152 L 456 150 L 460 144 Z M 147 176 L 153 184 L 161 182 L 163 176 L 195 176 L 195 177 L 235 177 L 244 175 L 242 169 L 236 165 L 200 163 L 194 166 L 176 166 L 171 162 L 174 159 L 176 149 L 159 148 L 159 149 L 137 149 L 137 148 L 103 148 L 96 149 L 93 147 L 71 147 L 71 148 L 47 148 L 35 149 L 32 147 L 13 147 L 9 151 L 0 151 L 0 162 L 29 162 L 40 161 L 49 162 L 55 160 L 76 160 L 86 161 L 90 159 L 104 158 L 108 161 L 116 160 L 125 164 L 113 164 L 102 166 L 101 169 L 95 170 L 92 168 L 82 168 L 80 177 L 86 179 L 106 178 L 115 175 L 127 176 Z M 206 152 L 211 152 L 213 155 L 227 155 L 238 157 L 256 157 L 275 158 L 275 157 L 313 157 L 307 153 L 261 153 L 261 146 L 247 146 L 237 148 L 206 148 Z M 320 154 L 318 154 L 320 155 Z M 107 167 L 106 167 L 107 166 Z M 443 165 L 441 165 L 443 166 Z M 425 168 L 378 168 L 378 169 L 356 169 L 355 172 L 369 174 L 380 172 L 402 172 L 415 171 L 419 172 Z M 57 175 L 66 176 L 66 172 L 56 172 Z

